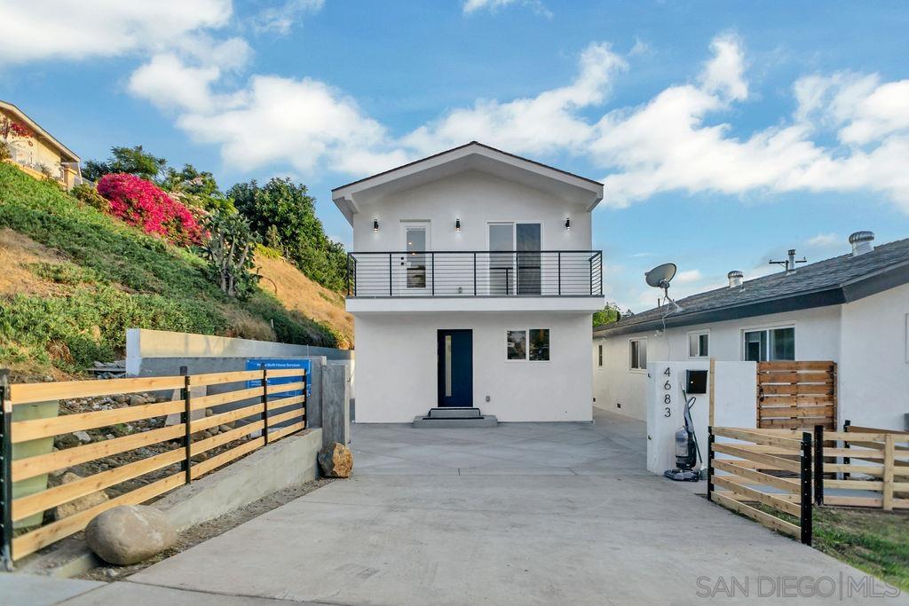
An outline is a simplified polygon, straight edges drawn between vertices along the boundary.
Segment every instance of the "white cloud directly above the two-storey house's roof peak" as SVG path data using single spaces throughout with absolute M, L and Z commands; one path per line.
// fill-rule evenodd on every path
M 564 149 L 583 152 L 591 124 L 578 111 L 602 104 L 614 76 L 625 69 L 624 59 L 609 45 L 589 45 L 581 55 L 580 74 L 571 84 L 507 103 L 481 99 L 473 107 L 455 109 L 417 128 L 402 143 L 419 154 L 434 153 L 471 139 L 515 154 Z

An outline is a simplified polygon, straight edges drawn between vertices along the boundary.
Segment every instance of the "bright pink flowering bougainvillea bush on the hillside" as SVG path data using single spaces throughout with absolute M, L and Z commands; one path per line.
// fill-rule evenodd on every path
M 157 233 L 187 246 L 199 243 L 202 226 L 183 204 L 157 185 L 135 174 L 105 174 L 98 180 L 98 194 L 110 202 L 109 213 L 145 233 Z

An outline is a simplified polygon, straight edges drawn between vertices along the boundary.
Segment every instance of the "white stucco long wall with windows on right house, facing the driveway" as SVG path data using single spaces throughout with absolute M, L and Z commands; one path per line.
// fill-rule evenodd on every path
M 742 361 L 744 331 L 780 326 L 795 327 L 796 360 L 840 359 L 840 305 L 787 313 L 771 313 L 742 320 L 670 328 L 665 333 L 623 334 L 594 338 L 594 398 L 608 411 L 644 421 L 646 373 L 629 370 L 629 341 L 647 339 L 647 360 L 697 361 L 688 357 L 688 334 L 709 331 L 710 355 L 718 361 Z M 604 346 L 604 363 L 597 366 L 597 346 Z M 754 402 L 753 402 L 754 403 Z

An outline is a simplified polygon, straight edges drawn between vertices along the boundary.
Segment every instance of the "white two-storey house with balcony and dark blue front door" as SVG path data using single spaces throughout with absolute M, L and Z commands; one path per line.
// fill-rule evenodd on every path
M 472 142 L 333 190 L 354 226 L 356 421 L 590 421 L 603 185 Z

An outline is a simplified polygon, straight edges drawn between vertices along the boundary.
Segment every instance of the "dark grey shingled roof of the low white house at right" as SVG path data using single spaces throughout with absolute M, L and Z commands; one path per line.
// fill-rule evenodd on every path
M 856 301 L 909 283 L 909 238 L 885 243 L 869 253 L 847 253 L 799 267 L 795 273 L 772 273 L 735 288 L 717 288 L 685 297 L 671 307 L 654 307 L 594 327 L 594 336 L 617 336 L 663 327 L 721 322 L 766 313 L 790 312 Z

